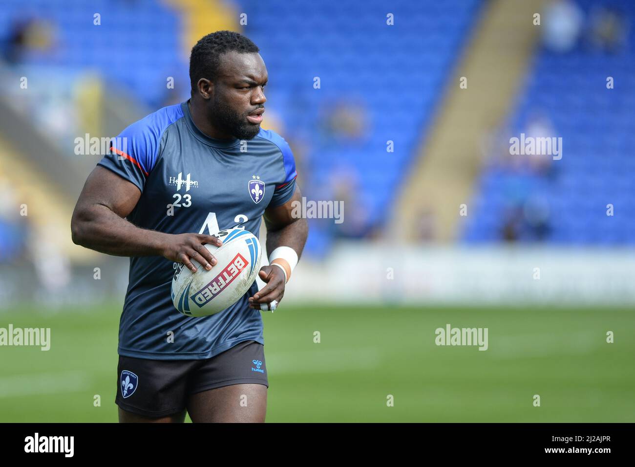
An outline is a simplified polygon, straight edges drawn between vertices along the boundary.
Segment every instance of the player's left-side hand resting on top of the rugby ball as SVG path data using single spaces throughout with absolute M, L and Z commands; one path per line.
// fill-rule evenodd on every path
M 163 256 L 170 261 L 183 263 L 192 273 L 196 273 L 196 266 L 190 260 L 195 259 L 207 271 L 216 266 L 217 259 L 210 251 L 203 247 L 205 243 L 211 243 L 220 247 L 223 242 L 211 235 L 203 234 L 170 234 L 163 248 Z

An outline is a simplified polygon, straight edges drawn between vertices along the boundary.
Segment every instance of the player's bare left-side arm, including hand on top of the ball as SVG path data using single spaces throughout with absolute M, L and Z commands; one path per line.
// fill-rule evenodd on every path
M 196 266 L 190 259 L 196 259 L 206 269 L 216 264 L 216 259 L 203 247 L 204 243 L 220 245 L 220 240 L 213 236 L 166 234 L 141 229 L 124 219 L 140 196 L 138 187 L 128 180 L 104 167 L 95 167 L 79 194 L 70 220 L 73 243 L 109 255 L 163 256 L 184 263 L 192 271 L 196 271 Z

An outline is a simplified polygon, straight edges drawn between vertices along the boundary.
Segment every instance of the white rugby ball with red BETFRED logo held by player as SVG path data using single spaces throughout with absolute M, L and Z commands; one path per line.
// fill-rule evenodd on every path
M 213 236 L 223 244 L 203 246 L 217 259 L 216 266 L 206 271 L 192 259 L 196 273 L 179 264 L 172 278 L 172 302 L 185 316 L 215 315 L 229 308 L 249 290 L 260 271 L 260 242 L 250 231 L 227 229 Z

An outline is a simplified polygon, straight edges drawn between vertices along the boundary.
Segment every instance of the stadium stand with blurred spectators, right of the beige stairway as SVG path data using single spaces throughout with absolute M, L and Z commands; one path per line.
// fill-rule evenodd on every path
M 462 232 L 467 243 L 635 243 L 635 35 L 625 23 L 623 43 L 616 30 L 614 43 L 606 47 L 594 30 L 601 15 L 632 18 L 635 4 L 576 4 L 584 18 L 580 36 L 570 50 L 546 45 L 537 50 L 509 130 L 499 135 L 500 152 L 490 151 L 492 160 L 472 200 L 474 215 Z M 613 88 L 607 87 L 608 78 Z M 537 164 L 530 156 L 512 160 L 509 138 L 520 133 L 561 137 L 562 158 L 540 156 Z M 613 215 L 607 215 L 608 205 Z

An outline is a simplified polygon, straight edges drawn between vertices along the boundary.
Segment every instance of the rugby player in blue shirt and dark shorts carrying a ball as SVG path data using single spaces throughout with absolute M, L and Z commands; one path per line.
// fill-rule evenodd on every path
M 192 48 L 192 97 L 128 126 L 86 180 L 72 238 L 130 256 L 119 326 L 120 422 L 263 422 L 267 370 L 260 310 L 274 309 L 307 238 L 291 216 L 301 199 L 293 154 L 262 130 L 267 69 L 258 47 L 219 31 Z M 174 308 L 178 263 L 217 263 L 211 234 L 243 227 L 258 235 L 264 215 L 270 266 L 233 306 L 192 318 Z M 256 370 L 252 370 L 252 369 Z M 257 371 L 262 370 L 262 371 Z

